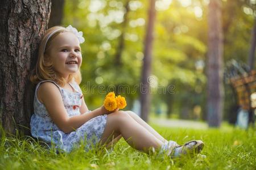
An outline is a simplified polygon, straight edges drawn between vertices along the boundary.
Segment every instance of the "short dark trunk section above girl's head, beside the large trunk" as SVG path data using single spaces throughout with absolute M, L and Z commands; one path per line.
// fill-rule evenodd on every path
M 63 18 L 64 0 L 54 0 L 51 6 L 51 15 L 48 23 L 48 28 L 60 25 Z

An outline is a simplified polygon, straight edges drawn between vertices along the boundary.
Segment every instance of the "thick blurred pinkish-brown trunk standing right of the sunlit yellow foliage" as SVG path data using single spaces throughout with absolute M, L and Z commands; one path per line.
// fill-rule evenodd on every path
M 218 127 L 223 108 L 223 37 L 221 24 L 221 0 L 209 3 L 209 49 L 208 49 L 208 124 Z

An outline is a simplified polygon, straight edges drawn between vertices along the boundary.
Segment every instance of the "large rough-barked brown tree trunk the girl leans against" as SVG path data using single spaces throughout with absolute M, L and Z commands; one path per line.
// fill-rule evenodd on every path
M 51 1 L 2 1 L 0 6 L 0 124 L 6 132 L 29 134 L 35 66 L 40 37 L 47 29 Z

